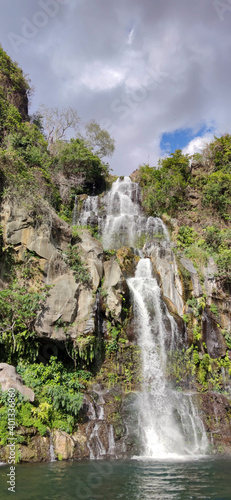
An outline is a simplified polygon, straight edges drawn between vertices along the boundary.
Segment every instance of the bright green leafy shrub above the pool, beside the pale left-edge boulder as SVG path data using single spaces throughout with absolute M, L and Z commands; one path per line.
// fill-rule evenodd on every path
M 26 403 L 22 409 L 21 425 L 34 425 L 42 434 L 47 427 L 72 432 L 82 406 L 84 380 L 90 373 L 65 368 L 55 357 L 46 366 L 21 362 L 17 371 L 36 395 L 35 404 Z

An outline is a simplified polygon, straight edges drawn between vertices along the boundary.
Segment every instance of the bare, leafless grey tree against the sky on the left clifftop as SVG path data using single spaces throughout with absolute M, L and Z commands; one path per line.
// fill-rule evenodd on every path
M 40 106 L 39 115 L 43 117 L 43 128 L 49 147 L 57 141 L 66 139 L 67 130 L 78 130 L 80 118 L 77 111 L 71 108 L 48 108 L 44 104 Z

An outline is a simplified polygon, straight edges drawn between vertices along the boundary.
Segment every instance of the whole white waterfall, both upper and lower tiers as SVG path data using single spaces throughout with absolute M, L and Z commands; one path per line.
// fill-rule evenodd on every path
M 79 224 L 97 224 L 105 249 L 135 249 L 142 241 L 144 244 L 145 238 L 169 244 L 163 221 L 142 213 L 140 187 L 129 177 L 117 179 L 111 190 L 99 198 L 92 196 L 84 201 Z M 167 380 L 168 355 L 179 346 L 180 336 L 161 299 L 149 258 L 141 255 L 135 276 L 128 278 L 127 283 L 142 358 L 142 390 L 135 403 L 140 456 L 163 459 L 203 455 L 207 437 L 192 397 L 175 390 Z M 95 428 L 93 433 L 97 431 Z M 110 446 L 112 449 L 113 443 Z M 100 453 L 103 455 L 104 450 Z

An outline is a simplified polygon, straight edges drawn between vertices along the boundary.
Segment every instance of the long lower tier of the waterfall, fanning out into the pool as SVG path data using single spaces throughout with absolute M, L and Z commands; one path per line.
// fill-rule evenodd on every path
M 207 438 L 190 396 L 175 391 L 165 377 L 169 333 L 177 341 L 175 321 L 167 332 L 160 289 L 149 259 L 141 259 L 134 278 L 128 279 L 134 300 L 135 323 L 142 353 L 142 392 L 137 398 L 142 454 L 177 458 L 204 454 Z

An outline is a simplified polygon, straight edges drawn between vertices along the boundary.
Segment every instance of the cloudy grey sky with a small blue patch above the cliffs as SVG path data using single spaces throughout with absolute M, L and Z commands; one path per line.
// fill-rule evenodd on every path
M 113 173 L 231 133 L 231 0 L 0 0 L 0 43 L 41 104 L 115 139 Z

